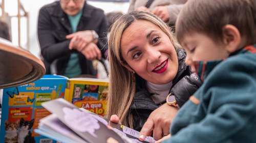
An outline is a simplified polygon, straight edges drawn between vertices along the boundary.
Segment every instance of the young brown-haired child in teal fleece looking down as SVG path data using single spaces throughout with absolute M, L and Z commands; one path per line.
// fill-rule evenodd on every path
M 190 0 L 176 27 L 202 86 L 163 142 L 255 142 L 256 1 Z

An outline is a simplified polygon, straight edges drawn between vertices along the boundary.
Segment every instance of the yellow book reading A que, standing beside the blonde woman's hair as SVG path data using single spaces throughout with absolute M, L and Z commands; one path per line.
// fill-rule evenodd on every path
M 84 108 L 104 116 L 108 87 L 108 80 L 94 78 L 68 79 L 65 99 L 78 108 Z

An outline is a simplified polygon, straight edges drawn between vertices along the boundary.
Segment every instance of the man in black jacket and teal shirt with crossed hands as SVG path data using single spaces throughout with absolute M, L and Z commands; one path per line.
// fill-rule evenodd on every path
M 104 12 L 84 0 L 60 0 L 39 11 L 41 55 L 57 75 L 96 76 L 92 61 L 104 57 L 107 32 Z

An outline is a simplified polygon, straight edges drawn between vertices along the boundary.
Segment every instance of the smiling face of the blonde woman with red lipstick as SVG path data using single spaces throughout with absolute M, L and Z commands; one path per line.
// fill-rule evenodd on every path
M 135 20 L 123 32 L 121 54 L 127 69 L 155 84 L 172 81 L 178 71 L 178 57 L 169 37 L 146 20 Z

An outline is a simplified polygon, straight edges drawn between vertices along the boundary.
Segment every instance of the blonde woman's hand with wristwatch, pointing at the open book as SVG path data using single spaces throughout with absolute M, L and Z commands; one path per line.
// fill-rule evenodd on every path
M 169 134 L 169 127 L 172 123 L 178 109 L 167 104 L 154 110 L 147 121 L 143 125 L 139 139 L 142 141 L 146 136 L 151 135 L 153 131 L 153 137 L 155 140 L 162 138 L 165 134 Z

